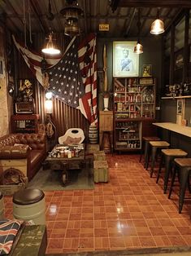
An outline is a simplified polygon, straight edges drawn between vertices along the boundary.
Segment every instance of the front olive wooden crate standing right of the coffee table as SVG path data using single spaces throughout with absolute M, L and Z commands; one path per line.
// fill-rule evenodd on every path
M 106 161 L 93 161 L 93 171 L 95 183 L 108 181 L 108 165 Z

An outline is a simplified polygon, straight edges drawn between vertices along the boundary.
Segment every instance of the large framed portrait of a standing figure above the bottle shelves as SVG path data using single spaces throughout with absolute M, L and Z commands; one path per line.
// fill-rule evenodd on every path
M 113 42 L 113 76 L 138 77 L 139 55 L 133 52 L 136 41 Z

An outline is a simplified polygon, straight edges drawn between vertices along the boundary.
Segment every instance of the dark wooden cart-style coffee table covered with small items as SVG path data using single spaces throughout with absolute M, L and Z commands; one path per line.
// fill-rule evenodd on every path
M 78 153 L 74 157 L 68 158 L 67 156 L 58 157 L 62 149 L 78 150 Z M 62 170 L 62 182 L 63 185 L 69 183 L 68 171 L 70 169 L 78 168 L 85 164 L 85 146 L 84 144 L 70 144 L 67 147 L 63 145 L 56 145 L 49 153 L 48 157 L 43 163 L 44 169 L 50 170 Z

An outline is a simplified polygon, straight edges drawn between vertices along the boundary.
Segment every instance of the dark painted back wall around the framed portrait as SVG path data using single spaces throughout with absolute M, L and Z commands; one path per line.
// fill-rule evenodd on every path
M 108 78 L 108 90 L 113 91 L 112 84 L 112 65 L 113 65 L 113 42 L 114 41 L 137 41 L 137 38 L 98 38 L 98 108 L 103 109 L 102 100 L 102 88 L 103 88 L 103 46 L 106 44 L 106 57 L 107 57 L 107 78 Z M 139 76 L 142 75 L 142 65 L 152 64 L 153 77 L 157 78 L 156 88 L 156 106 L 159 105 L 160 90 L 161 90 L 161 70 L 162 70 L 162 37 L 153 36 L 150 38 L 141 38 L 141 44 L 143 46 L 143 54 L 139 59 Z M 112 95 L 110 97 L 110 110 L 112 110 Z M 157 119 L 159 113 L 156 112 Z

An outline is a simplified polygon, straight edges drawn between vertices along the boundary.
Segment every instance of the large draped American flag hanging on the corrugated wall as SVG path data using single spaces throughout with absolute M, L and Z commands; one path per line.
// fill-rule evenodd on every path
M 43 86 L 41 55 L 29 51 L 13 38 L 15 46 L 23 55 L 38 82 Z M 64 103 L 80 112 L 91 125 L 98 124 L 97 118 L 97 56 L 96 36 L 89 34 L 80 46 L 76 38 L 67 46 L 63 57 L 46 59 L 50 90 Z

